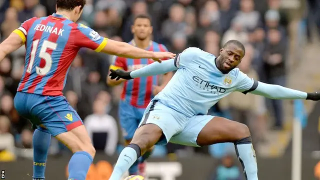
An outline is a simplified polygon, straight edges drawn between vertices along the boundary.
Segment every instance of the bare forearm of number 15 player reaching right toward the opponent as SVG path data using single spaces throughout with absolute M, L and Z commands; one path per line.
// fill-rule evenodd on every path
M 161 62 L 164 58 L 174 58 L 176 54 L 171 52 L 153 52 L 144 50 L 126 42 L 108 39 L 102 52 L 126 57 L 126 58 L 152 58 L 155 61 Z

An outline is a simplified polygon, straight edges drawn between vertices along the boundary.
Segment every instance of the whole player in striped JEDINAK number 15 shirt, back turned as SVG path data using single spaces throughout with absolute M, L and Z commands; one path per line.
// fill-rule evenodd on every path
M 82 120 L 62 95 L 66 74 L 81 47 L 130 58 L 174 57 L 101 37 L 91 28 L 74 23 L 85 0 L 56 0 L 57 12 L 26 20 L 0 44 L 0 60 L 25 44 L 25 64 L 14 107 L 37 129 L 33 134 L 33 179 L 44 179 L 50 135 L 74 153 L 69 179 L 84 180 L 95 149 Z M 107 69 L 106 69 L 107 70 Z

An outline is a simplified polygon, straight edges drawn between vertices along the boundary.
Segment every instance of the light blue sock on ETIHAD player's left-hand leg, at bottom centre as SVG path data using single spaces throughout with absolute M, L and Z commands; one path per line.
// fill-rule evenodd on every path
M 121 151 L 109 180 L 119 180 L 123 173 L 128 170 L 129 167 L 137 160 L 137 158 L 140 156 L 140 153 L 140 147 L 138 145 L 127 145 Z

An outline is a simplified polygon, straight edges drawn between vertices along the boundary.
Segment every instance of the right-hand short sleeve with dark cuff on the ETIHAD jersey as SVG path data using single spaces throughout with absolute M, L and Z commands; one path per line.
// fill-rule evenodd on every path
M 252 90 L 255 90 L 258 85 L 258 81 L 248 77 L 245 73 L 241 71 L 239 71 L 237 79 L 238 79 L 238 83 L 237 83 L 236 90 L 244 94 Z

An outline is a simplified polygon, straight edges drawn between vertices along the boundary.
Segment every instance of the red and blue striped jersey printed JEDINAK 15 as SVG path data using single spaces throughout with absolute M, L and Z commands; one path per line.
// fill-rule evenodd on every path
M 17 91 L 62 95 L 66 75 L 81 47 L 101 51 L 107 39 L 96 31 L 53 13 L 24 21 L 13 32 L 25 44 L 24 70 Z

